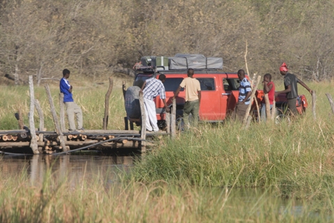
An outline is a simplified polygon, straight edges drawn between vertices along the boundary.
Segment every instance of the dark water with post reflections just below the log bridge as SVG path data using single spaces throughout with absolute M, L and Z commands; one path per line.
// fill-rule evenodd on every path
M 33 185 L 42 183 L 50 171 L 53 180 L 67 178 L 67 182 L 74 186 L 84 179 L 96 178 L 97 174 L 106 176 L 105 182 L 112 182 L 119 170 L 129 171 L 137 159 L 136 156 L 100 155 L 4 156 L 0 171 L 8 177 L 27 173 Z

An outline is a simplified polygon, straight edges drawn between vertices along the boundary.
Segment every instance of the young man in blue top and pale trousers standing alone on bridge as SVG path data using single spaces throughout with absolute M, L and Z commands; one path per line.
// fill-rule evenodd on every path
M 63 78 L 61 79 L 60 89 L 61 93 L 64 94 L 64 100 L 66 107 L 66 113 L 68 118 L 68 123 L 70 125 L 70 132 L 75 131 L 75 122 L 74 122 L 74 114 L 77 116 L 78 130 L 84 130 L 82 128 L 82 111 L 79 105 L 74 102 L 72 98 L 72 85 L 68 82 L 68 78 L 70 77 L 70 70 L 63 70 Z

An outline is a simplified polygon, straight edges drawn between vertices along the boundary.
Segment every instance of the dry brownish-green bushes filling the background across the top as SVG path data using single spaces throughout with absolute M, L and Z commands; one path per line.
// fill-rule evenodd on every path
M 224 71 L 333 77 L 333 1 L 1 1 L 3 74 L 99 77 L 147 55 L 221 56 Z

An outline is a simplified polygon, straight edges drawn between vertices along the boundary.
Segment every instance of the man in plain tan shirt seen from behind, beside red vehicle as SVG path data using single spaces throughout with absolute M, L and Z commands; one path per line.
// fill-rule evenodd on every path
M 180 86 L 175 91 L 173 99 L 182 88 L 186 88 L 186 102 L 183 109 L 184 125 L 189 128 L 189 114 L 192 115 L 191 121 L 194 127 L 198 125 L 198 112 L 200 110 L 200 82 L 193 78 L 193 69 L 189 68 L 188 77 L 184 78 Z

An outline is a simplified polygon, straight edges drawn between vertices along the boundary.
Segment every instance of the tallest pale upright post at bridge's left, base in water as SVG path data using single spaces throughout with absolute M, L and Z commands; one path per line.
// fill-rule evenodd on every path
M 30 147 L 33 150 L 33 154 L 39 154 L 38 145 L 35 132 L 35 121 L 33 120 L 33 112 L 35 110 L 35 95 L 33 91 L 33 76 L 29 75 L 29 92 L 30 92 L 30 112 L 29 112 L 29 125 L 31 132 Z

